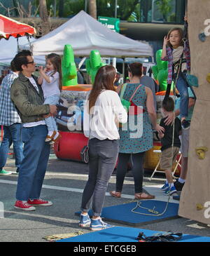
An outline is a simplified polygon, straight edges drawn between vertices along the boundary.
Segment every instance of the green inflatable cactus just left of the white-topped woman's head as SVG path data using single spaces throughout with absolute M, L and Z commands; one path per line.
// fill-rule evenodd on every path
M 89 74 L 91 78 L 91 83 L 93 84 L 94 78 L 99 68 L 105 65 L 102 62 L 102 58 L 98 50 L 91 50 L 90 58 L 86 60 L 85 65 L 87 69 L 87 74 Z

